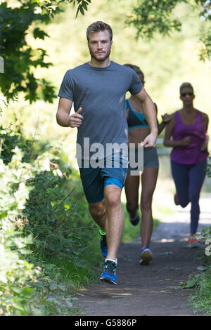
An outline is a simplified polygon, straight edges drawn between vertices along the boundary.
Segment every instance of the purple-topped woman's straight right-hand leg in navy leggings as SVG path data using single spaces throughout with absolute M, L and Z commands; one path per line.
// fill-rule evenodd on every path
M 191 167 L 189 171 L 189 199 L 191 202 L 191 235 L 196 234 L 200 214 L 199 197 L 200 190 L 205 179 L 207 161 L 200 161 Z

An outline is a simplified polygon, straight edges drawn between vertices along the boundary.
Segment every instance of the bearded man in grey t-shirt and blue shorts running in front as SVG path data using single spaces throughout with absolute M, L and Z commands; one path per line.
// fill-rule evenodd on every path
M 158 128 L 155 107 L 137 74 L 110 61 L 111 27 L 94 22 L 87 28 L 87 41 L 91 59 L 65 73 L 56 119 L 60 126 L 77 127 L 80 177 L 91 216 L 101 229 L 106 258 L 101 280 L 117 284 L 117 251 L 124 228 L 121 192 L 128 164 L 127 91 L 141 102 L 150 126 L 145 147 L 155 146 Z M 70 115 L 72 103 L 75 113 Z

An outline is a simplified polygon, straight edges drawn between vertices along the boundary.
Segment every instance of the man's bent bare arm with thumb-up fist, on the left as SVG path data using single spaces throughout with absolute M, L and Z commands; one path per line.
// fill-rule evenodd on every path
M 60 98 L 58 101 L 58 110 L 56 113 L 56 121 L 58 125 L 63 127 L 79 127 L 82 124 L 82 119 L 84 118 L 80 112 L 82 112 L 82 107 L 79 107 L 75 114 L 70 115 L 70 110 L 72 107 L 72 100 L 68 98 Z

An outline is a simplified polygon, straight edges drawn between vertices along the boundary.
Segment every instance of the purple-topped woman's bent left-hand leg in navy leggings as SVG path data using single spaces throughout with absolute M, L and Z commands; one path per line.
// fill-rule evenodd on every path
M 172 177 L 174 179 L 174 184 L 177 191 L 177 196 L 179 199 L 179 205 L 181 207 L 186 207 L 189 200 L 189 177 L 188 171 L 189 166 L 186 164 L 178 164 L 171 161 L 172 166 Z

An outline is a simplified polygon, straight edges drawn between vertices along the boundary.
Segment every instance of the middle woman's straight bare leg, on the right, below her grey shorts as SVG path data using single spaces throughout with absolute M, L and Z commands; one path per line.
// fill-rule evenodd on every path
M 152 200 L 158 178 L 158 169 L 148 167 L 141 176 L 141 242 L 142 247 L 151 242 L 153 232 Z

